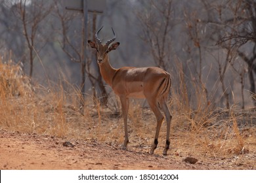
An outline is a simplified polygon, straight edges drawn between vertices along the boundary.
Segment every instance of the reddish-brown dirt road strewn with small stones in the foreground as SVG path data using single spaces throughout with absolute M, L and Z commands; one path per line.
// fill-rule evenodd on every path
M 0 131 L 0 169 L 256 169 L 255 153 L 198 158 L 195 164 L 184 158 L 172 150 L 168 156 L 150 155 L 91 140 Z

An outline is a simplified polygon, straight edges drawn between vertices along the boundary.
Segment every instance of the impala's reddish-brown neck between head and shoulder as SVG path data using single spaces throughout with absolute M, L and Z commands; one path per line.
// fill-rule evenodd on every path
M 102 75 L 102 78 L 104 78 L 107 84 L 112 86 L 112 78 L 116 74 L 116 69 L 110 65 L 108 56 L 106 56 L 106 60 L 98 64 L 98 66 L 100 67 L 100 74 Z

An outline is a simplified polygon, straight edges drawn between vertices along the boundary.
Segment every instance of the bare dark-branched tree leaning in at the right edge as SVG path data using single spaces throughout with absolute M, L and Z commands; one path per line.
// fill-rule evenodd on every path
M 217 44 L 223 47 L 225 42 L 230 42 L 232 45 L 230 48 L 247 64 L 249 91 L 256 106 L 256 1 L 221 1 L 219 4 L 203 1 L 203 3 L 209 10 L 208 24 L 212 27 L 215 25 L 216 31 L 213 37 L 217 40 Z M 244 69 L 240 73 L 242 75 Z

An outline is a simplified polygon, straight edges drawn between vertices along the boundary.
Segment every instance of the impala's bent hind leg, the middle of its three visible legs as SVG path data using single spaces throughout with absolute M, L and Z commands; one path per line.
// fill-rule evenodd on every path
M 161 111 L 160 111 L 160 108 L 158 107 L 157 101 L 148 101 L 148 104 L 150 105 L 152 111 L 154 112 L 154 114 L 156 116 L 156 122 L 157 122 L 156 134 L 155 134 L 154 142 L 152 144 L 152 148 L 150 150 L 150 154 L 154 154 L 154 150 L 158 146 L 158 137 L 159 137 L 159 133 L 160 133 L 161 124 L 163 122 L 163 115 L 161 114 Z

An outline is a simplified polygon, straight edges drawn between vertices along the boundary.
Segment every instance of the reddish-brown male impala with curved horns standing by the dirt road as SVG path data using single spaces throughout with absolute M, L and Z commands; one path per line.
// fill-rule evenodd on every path
M 111 86 L 116 95 L 119 96 L 121 101 L 125 126 L 125 139 L 123 141 L 122 148 L 127 150 L 127 144 L 129 142 L 127 130 L 129 98 L 146 98 L 156 116 L 157 122 L 155 139 L 152 144 L 150 154 L 154 153 L 154 150 L 158 145 L 158 136 L 163 122 L 163 115 L 159 108 L 160 105 L 167 122 L 166 144 L 163 150 L 163 155 L 167 155 L 167 150 L 169 149 L 170 144 L 169 133 L 172 117 L 166 103 L 167 96 L 171 88 L 171 77 L 169 73 L 158 67 L 121 67 L 119 69 L 114 69 L 110 65 L 108 53 L 112 50 L 116 50 L 117 46 L 119 46 L 119 42 L 114 42 L 110 45 L 116 39 L 115 32 L 112 29 L 114 38 L 107 41 L 106 44 L 102 44 L 102 41 L 98 38 L 98 33 L 101 29 L 102 27 L 98 29 L 95 34 L 96 42 L 88 41 L 88 43 L 91 48 L 94 48 L 97 51 L 97 61 L 98 66 L 100 67 L 100 74 L 106 83 Z

